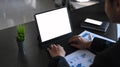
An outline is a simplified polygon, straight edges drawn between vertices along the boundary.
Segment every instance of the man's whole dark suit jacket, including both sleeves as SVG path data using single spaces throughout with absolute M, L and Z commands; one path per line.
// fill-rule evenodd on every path
M 111 45 L 108 45 L 111 44 Z M 107 48 L 107 49 L 106 49 Z M 100 52 L 90 67 L 120 67 L 120 40 L 116 43 L 95 38 L 91 49 Z M 64 57 L 54 57 L 48 67 L 70 67 Z

